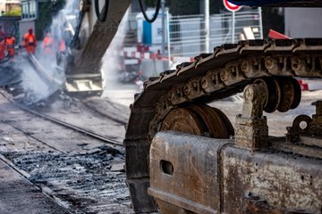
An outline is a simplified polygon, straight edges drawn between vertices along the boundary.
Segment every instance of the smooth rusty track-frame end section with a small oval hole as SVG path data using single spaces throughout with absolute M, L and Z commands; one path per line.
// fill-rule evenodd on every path
M 177 213 L 180 209 L 195 213 L 219 210 L 217 152 L 229 143 L 232 140 L 173 131 L 155 136 L 150 149 L 148 193 L 157 199 L 162 213 Z M 159 201 L 166 202 L 165 206 L 160 207 Z

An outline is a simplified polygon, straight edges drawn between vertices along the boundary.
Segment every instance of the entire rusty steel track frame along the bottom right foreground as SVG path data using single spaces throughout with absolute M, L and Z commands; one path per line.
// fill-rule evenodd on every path
M 150 148 L 148 193 L 162 213 L 320 213 L 321 164 L 249 152 L 229 139 L 159 132 Z

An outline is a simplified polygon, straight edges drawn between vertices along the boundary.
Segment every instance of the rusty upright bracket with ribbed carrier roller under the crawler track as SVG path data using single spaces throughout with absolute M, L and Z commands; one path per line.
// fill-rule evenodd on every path
M 285 112 L 296 108 L 301 101 L 301 87 L 294 78 L 258 78 L 245 86 L 243 97 L 242 114 L 236 117 L 235 144 L 256 151 L 268 146 L 263 111 Z

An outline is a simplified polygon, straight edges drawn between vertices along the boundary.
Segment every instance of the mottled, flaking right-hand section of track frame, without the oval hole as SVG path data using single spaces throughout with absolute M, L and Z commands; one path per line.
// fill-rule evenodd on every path
M 320 160 L 283 152 L 250 153 L 233 147 L 225 149 L 222 160 L 225 213 L 243 213 L 246 191 L 278 209 L 321 212 Z

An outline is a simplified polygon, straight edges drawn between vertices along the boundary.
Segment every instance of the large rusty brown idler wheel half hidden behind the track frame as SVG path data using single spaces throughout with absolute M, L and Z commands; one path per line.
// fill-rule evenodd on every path
M 165 130 L 214 138 L 233 136 L 233 125 L 225 114 L 206 104 L 191 105 L 170 111 L 160 128 L 160 131 Z

